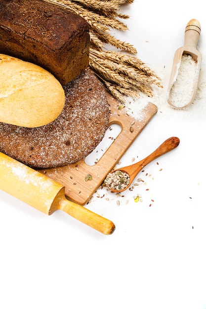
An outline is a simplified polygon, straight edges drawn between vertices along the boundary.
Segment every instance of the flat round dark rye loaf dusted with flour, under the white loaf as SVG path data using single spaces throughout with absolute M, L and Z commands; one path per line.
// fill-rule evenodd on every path
M 90 154 L 109 123 L 104 87 L 86 69 L 64 91 L 64 109 L 49 124 L 27 128 L 0 122 L 0 152 L 33 168 L 68 165 Z

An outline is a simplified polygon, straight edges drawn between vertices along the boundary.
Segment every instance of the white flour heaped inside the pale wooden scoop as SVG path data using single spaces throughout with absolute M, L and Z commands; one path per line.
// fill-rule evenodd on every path
M 176 108 L 186 106 L 192 96 L 197 63 L 190 55 L 182 55 L 177 78 L 170 90 L 171 104 Z

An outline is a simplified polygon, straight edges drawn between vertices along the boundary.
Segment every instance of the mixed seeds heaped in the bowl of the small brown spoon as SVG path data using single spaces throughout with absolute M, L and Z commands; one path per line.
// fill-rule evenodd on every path
M 104 180 L 105 186 L 107 186 L 110 190 L 123 190 L 129 184 L 130 177 L 126 172 L 117 170 L 115 172 L 111 172 L 107 175 Z

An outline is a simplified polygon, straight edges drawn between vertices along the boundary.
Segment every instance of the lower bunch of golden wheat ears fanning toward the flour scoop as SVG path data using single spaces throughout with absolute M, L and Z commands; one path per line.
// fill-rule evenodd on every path
M 162 87 L 161 79 L 136 57 L 117 51 L 97 51 L 90 48 L 90 67 L 121 103 L 125 96 L 139 96 L 139 91 L 152 97 L 151 84 Z M 133 61 L 132 61 L 133 60 Z

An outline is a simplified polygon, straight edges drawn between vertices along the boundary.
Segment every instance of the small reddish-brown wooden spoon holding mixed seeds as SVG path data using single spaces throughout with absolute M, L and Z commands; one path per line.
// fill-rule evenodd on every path
M 129 175 L 129 184 L 124 189 L 121 189 L 121 190 L 114 190 L 107 185 L 108 188 L 113 192 L 123 192 L 124 190 L 128 189 L 130 184 L 136 177 L 136 175 L 141 171 L 141 169 L 145 165 L 147 165 L 154 159 L 158 158 L 162 154 L 166 154 L 170 150 L 176 148 L 179 145 L 179 143 L 180 143 L 180 140 L 178 137 L 170 137 L 167 140 L 165 140 L 165 142 L 161 144 L 152 154 L 148 155 L 143 160 L 137 163 L 122 167 L 122 168 L 115 169 L 111 173 L 115 173 L 116 171 L 121 171 L 122 173 L 127 173 Z

